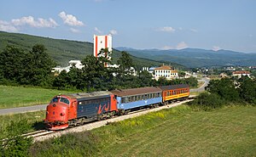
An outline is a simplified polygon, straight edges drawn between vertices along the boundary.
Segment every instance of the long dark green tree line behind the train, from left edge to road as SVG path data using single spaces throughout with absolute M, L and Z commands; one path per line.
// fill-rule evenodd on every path
M 108 48 L 101 53 L 109 54 Z M 3 85 L 29 85 L 38 87 L 50 87 L 66 90 L 80 90 L 85 92 L 124 89 L 134 87 L 152 87 L 172 84 L 189 84 L 197 87 L 197 80 L 176 79 L 167 81 L 161 77 L 158 81 L 152 80 L 148 71 L 139 71 L 134 75 L 134 67 L 129 53 L 121 52 L 117 63 L 119 68 L 106 68 L 106 64 L 112 64 L 111 59 L 105 57 L 96 58 L 87 55 L 82 59 L 82 69 L 75 66 L 67 72 L 61 71 L 55 75 L 52 69 L 56 63 L 46 53 L 44 45 L 37 44 L 32 50 L 27 51 L 15 46 L 7 46 L 0 53 L 0 83 Z

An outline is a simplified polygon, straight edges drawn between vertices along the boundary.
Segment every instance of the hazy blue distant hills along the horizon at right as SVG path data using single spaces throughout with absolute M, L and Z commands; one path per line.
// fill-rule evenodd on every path
M 184 48 L 184 49 L 132 49 L 117 48 L 125 50 L 131 55 L 154 60 L 163 60 L 166 62 L 175 62 L 183 64 L 187 67 L 210 67 L 210 66 L 226 66 L 241 65 L 255 66 L 256 53 L 239 53 L 229 50 L 205 50 L 200 48 Z

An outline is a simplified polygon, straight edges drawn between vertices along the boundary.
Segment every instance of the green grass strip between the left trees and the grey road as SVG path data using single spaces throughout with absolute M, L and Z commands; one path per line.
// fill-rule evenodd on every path
M 59 93 L 72 93 L 38 87 L 0 86 L 0 109 L 48 104 Z

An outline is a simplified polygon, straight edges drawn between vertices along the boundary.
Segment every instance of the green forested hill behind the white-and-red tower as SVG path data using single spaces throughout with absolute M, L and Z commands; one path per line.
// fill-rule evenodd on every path
M 0 31 L 0 51 L 3 51 L 7 45 L 15 45 L 18 48 L 29 51 L 35 44 L 44 44 L 45 48 L 47 48 L 47 53 L 62 66 L 66 66 L 71 59 L 82 60 L 86 55 L 93 53 L 93 43 L 91 42 L 69 41 Z M 113 49 L 112 59 L 114 63 L 116 63 L 116 60 L 119 59 L 120 56 L 121 53 Z M 136 67 L 158 66 L 166 63 L 134 56 L 131 56 L 131 58 Z M 183 66 L 179 64 L 172 64 L 172 66 L 183 68 Z

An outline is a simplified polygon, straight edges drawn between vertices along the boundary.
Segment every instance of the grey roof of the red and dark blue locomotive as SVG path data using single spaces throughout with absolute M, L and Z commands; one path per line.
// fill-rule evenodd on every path
M 67 94 L 67 96 L 71 98 L 86 98 L 86 99 L 93 99 L 93 98 L 105 98 L 111 95 L 112 93 L 108 91 L 97 91 L 97 92 L 92 92 L 92 93 L 72 93 L 72 94 Z

